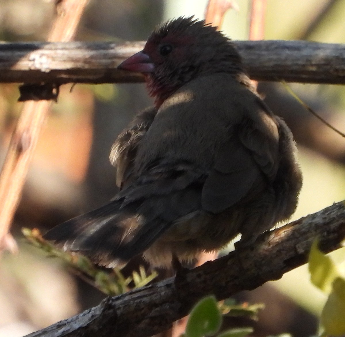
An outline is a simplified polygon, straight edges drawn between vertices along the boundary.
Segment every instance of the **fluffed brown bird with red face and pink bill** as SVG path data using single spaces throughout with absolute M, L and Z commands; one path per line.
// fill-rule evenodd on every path
M 141 72 L 154 105 L 110 151 L 119 192 L 44 238 L 96 264 L 192 261 L 237 235 L 236 250 L 294 213 L 302 186 L 296 144 L 260 97 L 223 33 L 179 17 L 119 66 Z

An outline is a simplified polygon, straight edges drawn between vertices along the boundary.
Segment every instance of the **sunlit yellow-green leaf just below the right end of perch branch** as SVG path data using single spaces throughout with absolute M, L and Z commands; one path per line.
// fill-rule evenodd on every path
M 339 276 L 339 272 L 332 259 L 320 251 L 317 245 L 318 240 L 316 239 L 309 253 L 310 279 L 314 286 L 329 294 L 332 290 L 332 283 Z

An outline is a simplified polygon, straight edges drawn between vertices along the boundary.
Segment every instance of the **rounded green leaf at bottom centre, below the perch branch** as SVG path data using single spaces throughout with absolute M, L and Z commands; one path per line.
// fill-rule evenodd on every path
M 215 297 L 205 297 L 192 309 L 186 326 L 186 335 L 188 337 L 214 335 L 218 332 L 221 321 L 222 316 Z

